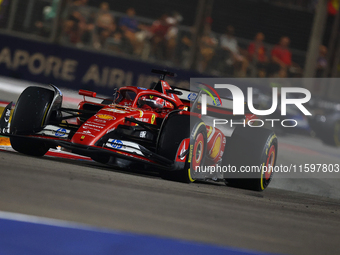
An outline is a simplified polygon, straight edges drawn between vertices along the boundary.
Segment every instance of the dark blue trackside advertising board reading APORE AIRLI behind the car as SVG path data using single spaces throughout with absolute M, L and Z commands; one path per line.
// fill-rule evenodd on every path
M 102 52 L 38 42 L 0 34 L 0 75 L 74 90 L 87 89 L 112 94 L 116 87 L 136 85 L 149 87 L 157 76 L 151 69 L 177 73 L 170 85 L 189 87 L 196 72 L 169 68 Z

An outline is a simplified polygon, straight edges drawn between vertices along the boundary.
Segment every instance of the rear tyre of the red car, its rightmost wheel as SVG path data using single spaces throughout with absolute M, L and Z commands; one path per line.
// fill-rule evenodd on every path
M 261 170 L 254 173 L 230 173 L 226 184 L 237 188 L 263 191 L 273 177 L 273 171 L 263 171 L 261 166 L 274 167 L 277 159 L 277 138 L 274 132 L 265 128 L 237 127 L 227 140 L 223 166 L 257 166 Z

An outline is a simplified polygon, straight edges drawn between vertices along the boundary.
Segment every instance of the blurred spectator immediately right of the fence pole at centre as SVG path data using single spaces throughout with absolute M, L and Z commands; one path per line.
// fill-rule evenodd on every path
M 200 56 L 198 61 L 198 70 L 200 72 L 210 71 L 212 59 L 216 54 L 218 40 L 211 31 L 212 19 L 208 17 L 204 25 L 203 35 L 200 41 Z

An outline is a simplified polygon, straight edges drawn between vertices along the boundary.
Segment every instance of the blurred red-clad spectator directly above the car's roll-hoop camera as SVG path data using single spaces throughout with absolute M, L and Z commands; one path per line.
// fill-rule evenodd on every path
M 165 59 L 166 55 L 166 35 L 171 24 L 168 22 L 168 15 L 163 14 L 159 19 L 153 22 L 151 32 L 151 55 L 153 58 Z

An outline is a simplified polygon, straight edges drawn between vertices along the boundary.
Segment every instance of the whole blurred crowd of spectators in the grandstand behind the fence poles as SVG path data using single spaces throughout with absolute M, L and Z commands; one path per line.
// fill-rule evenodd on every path
M 73 0 L 64 13 L 62 40 L 78 47 L 91 46 L 144 60 L 159 60 L 189 68 L 193 29 L 180 26 L 183 17 L 173 12 L 157 20 L 136 17 L 130 7 L 125 14 L 111 10 L 107 2 L 90 8 L 88 0 Z M 240 47 L 235 29 L 227 25 L 222 35 L 212 31 L 213 20 L 205 20 L 199 38 L 197 65 L 200 72 L 234 77 L 299 77 L 302 68 L 292 60 L 290 38 L 282 36 L 277 45 L 265 42 L 258 32 L 246 47 Z M 318 75 L 327 66 L 327 48 L 320 46 Z

